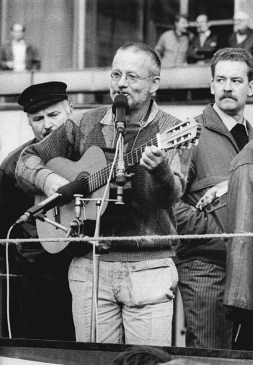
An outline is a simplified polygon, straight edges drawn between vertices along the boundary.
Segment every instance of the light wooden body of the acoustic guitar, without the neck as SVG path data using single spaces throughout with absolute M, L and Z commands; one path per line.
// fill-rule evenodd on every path
M 61 175 L 65 179 L 71 181 L 76 180 L 77 177 L 85 177 L 93 174 L 98 169 L 107 165 L 107 158 L 105 153 L 100 147 L 90 147 L 81 159 L 77 162 L 70 161 L 63 157 L 56 157 L 48 161 L 46 167 L 49 170 L 54 171 L 58 175 Z M 92 193 L 91 198 L 102 198 L 105 191 L 105 186 L 100 187 L 98 190 Z M 109 198 L 109 191 L 106 194 L 106 199 Z M 45 195 L 37 195 L 35 197 L 35 204 L 39 204 L 42 200 L 46 199 Z M 81 219 L 96 220 L 96 201 L 88 201 L 84 212 L 82 212 Z M 107 207 L 107 202 L 103 204 L 101 214 L 104 213 Z M 55 215 L 57 211 L 57 215 Z M 51 209 L 46 212 L 46 217 L 52 221 L 56 221 L 64 227 L 69 228 L 73 220 L 75 220 L 75 203 L 74 201 L 59 206 L 57 209 Z M 40 238 L 65 238 L 66 232 L 60 228 L 56 228 L 48 223 L 36 220 L 37 231 Z M 58 253 L 67 247 L 69 242 L 42 242 L 42 247 L 49 253 Z

